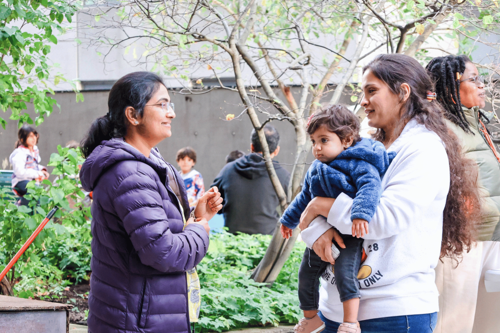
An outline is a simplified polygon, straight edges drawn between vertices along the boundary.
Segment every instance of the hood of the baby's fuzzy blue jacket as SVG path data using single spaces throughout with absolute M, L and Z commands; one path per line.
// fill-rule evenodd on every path
M 385 170 L 389 167 L 389 163 L 392 161 L 396 154 L 385 153 L 385 147 L 381 142 L 361 138 L 355 145 L 345 149 L 341 152 L 336 159 L 358 159 L 375 166 L 380 174 L 383 174 Z M 335 159 L 335 160 L 336 160 Z M 335 161 L 333 160 L 333 161 Z

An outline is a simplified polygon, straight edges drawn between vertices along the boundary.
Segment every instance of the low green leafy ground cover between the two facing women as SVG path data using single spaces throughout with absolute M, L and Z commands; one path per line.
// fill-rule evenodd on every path
M 297 272 L 305 249 L 297 243 L 271 288 L 250 279 L 264 256 L 270 236 L 223 232 L 210 236 L 206 257 L 198 265 L 201 332 L 248 326 L 296 323 Z

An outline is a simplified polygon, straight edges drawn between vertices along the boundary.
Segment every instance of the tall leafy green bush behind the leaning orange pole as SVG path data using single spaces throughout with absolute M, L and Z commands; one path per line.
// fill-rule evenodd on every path
M 50 209 L 55 205 L 61 208 L 7 274 L 11 284 L 29 277 L 47 284 L 60 283 L 68 275 L 75 281 L 88 279 L 90 208 L 84 207 L 80 200 L 84 194 L 75 177 L 83 159 L 76 149 L 60 146 L 57 149 L 58 153 L 50 156 L 48 165 L 54 167 L 52 174 L 58 179 L 54 183 L 44 180 L 40 185 L 29 182 L 24 196 L 30 200 L 29 207 L 15 206 L 16 198 L 8 189 L 0 192 L 1 263 L 7 263 L 14 256 Z M 86 242 L 88 246 L 81 246 Z M 4 267 L 5 264 L 0 265 L 0 269 Z M 29 296 L 29 290 L 22 285 L 14 290 L 27 293 L 19 296 Z

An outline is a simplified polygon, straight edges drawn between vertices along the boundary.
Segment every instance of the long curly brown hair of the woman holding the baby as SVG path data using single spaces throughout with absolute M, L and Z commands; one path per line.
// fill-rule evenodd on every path
M 397 137 L 411 119 L 436 133 L 442 140 L 449 161 L 449 192 L 443 211 L 440 258 L 461 258 L 463 251 L 470 251 L 475 242 L 476 226 L 480 221 L 480 201 L 477 188 L 477 165 L 465 158 L 456 135 L 447 127 L 443 110 L 438 103 L 429 102 L 427 91 L 433 83 L 426 70 L 412 57 L 403 54 L 381 54 L 363 67 L 384 81 L 399 97 L 400 119 L 394 136 Z M 403 101 L 401 84 L 407 83 L 410 95 Z M 377 129 L 373 135 L 382 143 L 385 132 Z

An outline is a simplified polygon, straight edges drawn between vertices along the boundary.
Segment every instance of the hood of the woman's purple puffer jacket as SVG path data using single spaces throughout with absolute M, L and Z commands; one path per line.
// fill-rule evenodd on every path
M 155 155 L 158 160 L 163 161 L 155 148 L 151 149 L 151 154 Z M 135 148 L 125 144 L 122 139 L 113 138 L 102 141 L 83 162 L 80 170 L 81 186 L 85 191 L 92 191 L 99 177 L 111 166 L 122 161 L 139 161 L 149 165 L 156 171 L 162 183 L 168 185 L 166 162 L 164 166 L 158 165 Z M 176 173 L 176 170 L 172 169 Z M 176 176 L 177 180 L 180 179 L 178 174 Z

